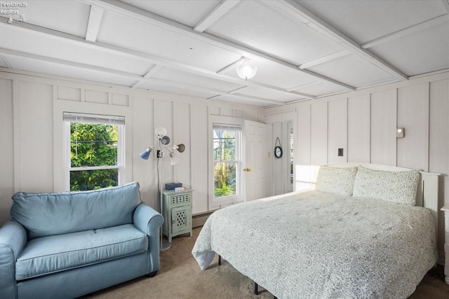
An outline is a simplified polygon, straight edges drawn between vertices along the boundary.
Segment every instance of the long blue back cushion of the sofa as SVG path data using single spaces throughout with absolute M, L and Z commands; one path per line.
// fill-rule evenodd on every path
M 11 217 L 28 239 L 133 223 L 140 204 L 139 184 L 91 191 L 15 193 Z

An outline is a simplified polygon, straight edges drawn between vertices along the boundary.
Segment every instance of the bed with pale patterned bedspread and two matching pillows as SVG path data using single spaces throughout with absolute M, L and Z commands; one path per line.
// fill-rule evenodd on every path
M 322 165 L 314 190 L 215 211 L 192 254 L 215 253 L 277 298 L 407 298 L 437 260 L 438 175 Z

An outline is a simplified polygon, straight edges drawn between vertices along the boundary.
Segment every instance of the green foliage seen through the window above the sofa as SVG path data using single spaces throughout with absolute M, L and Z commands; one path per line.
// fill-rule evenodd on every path
M 70 124 L 72 167 L 113 166 L 117 164 L 116 125 Z M 96 190 L 117 186 L 118 169 L 72 170 L 70 190 Z

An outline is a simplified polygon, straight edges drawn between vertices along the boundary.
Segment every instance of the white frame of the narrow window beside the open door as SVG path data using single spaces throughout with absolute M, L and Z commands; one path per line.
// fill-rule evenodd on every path
M 236 194 L 224 197 L 215 198 L 215 172 L 214 172 L 214 160 L 213 160 L 213 125 L 236 125 L 241 127 L 239 138 L 236 140 Z M 209 208 L 216 209 L 228 204 L 234 204 L 236 202 L 243 202 L 243 176 L 242 165 L 244 159 L 243 152 L 243 120 L 239 118 L 232 118 L 227 116 L 210 116 L 209 117 Z

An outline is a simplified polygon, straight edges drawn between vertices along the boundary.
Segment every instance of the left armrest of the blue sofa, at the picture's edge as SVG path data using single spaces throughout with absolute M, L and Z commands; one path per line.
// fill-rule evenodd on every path
M 16 298 L 15 260 L 27 244 L 22 225 L 9 221 L 0 228 L 0 298 Z

